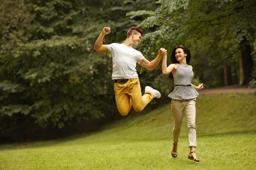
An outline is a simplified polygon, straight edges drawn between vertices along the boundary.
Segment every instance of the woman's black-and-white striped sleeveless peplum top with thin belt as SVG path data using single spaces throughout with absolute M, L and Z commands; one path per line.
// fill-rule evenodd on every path
M 185 65 L 177 65 L 177 71 L 173 74 L 174 85 L 191 85 L 191 80 L 194 77 L 194 73 L 191 67 Z M 194 99 L 199 94 L 192 86 L 175 86 L 172 93 L 168 97 L 176 100 L 182 99 Z

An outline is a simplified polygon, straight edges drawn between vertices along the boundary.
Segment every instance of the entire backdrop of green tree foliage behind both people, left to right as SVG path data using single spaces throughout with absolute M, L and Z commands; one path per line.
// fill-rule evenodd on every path
M 143 28 L 145 35 L 137 49 L 150 61 L 161 47 L 169 56 L 175 45 L 188 46 L 193 81 L 204 82 L 205 87 L 223 85 L 224 63 L 232 66 L 232 76 L 238 79 L 242 40 L 256 50 L 254 0 L 2 1 L 3 136 L 15 130 L 17 134 L 17 127 L 26 124 L 61 128 L 115 114 L 111 55 L 93 50 L 106 26 L 111 34 L 105 36 L 104 44 L 122 42 L 131 26 Z M 142 89 L 152 85 L 163 94 L 172 90 L 160 66 L 145 71 L 137 65 L 137 71 Z

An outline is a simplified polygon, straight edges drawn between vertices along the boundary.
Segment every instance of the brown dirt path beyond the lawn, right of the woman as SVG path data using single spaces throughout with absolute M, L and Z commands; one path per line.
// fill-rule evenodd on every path
M 221 93 L 254 93 L 253 88 L 248 88 L 248 85 L 231 85 L 221 88 L 213 88 L 213 89 L 203 89 L 198 91 L 200 95 L 204 94 L 221 94 Z

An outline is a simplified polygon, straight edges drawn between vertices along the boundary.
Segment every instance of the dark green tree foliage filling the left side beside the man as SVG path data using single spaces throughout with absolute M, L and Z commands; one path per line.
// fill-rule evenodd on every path
M 145 2 L 144 8 L 153 8 L 151 1 Z M 94 51 L 93 45 L 106 26 L 113 32 L 106 44 L 124 40 L 128 28 L 140 20 L 129 20 L 125 14 L 145 2 L 3 0 L 1 134 L 26 127 L 16 123 L 21 118 L 29 125 L 62 128 L 115 112 L 112 59 Z

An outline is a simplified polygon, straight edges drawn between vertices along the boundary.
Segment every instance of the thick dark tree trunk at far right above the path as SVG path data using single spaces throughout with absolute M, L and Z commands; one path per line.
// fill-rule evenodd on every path
M 240 43 L 241 58 L 240 63 L 240 85 L 247 85 L 250 82 L 250 76 L 253 68 L 253 57 L 251 55 L 250 43 L 244 37 Z

